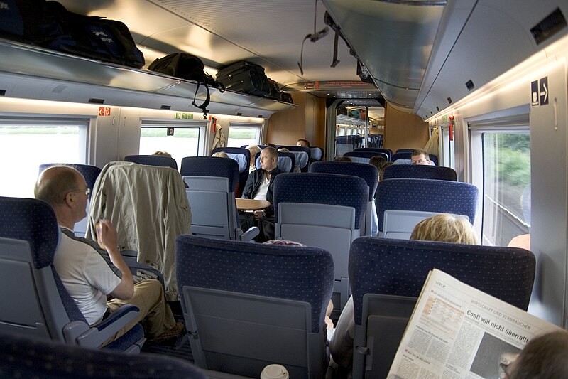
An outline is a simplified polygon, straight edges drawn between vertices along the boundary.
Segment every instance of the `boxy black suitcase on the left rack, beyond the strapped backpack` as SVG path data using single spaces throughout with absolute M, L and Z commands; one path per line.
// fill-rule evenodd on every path
M 219 70 L 217 81 L 222 82 L 227 90 L 244 92 L 249 95 L 269 96 L 271 93 L 264 68 L 246 60 Z

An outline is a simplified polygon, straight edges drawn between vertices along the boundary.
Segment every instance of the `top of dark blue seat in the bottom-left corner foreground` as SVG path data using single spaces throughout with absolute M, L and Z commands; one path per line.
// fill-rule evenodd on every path
M 147 353 L 125 358 L 9 333 L 0 333 L 0 373 L 3 378 L 205 379 L 178 358 Z

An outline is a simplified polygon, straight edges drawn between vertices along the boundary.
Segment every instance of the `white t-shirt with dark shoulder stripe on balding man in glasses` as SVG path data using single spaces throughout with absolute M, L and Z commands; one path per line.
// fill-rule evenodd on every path
M 53 265 L 89 325 L 101 319 L 107 311 L 107 294 L 121 282 L 109 263 L 86 242 L 61 233 Z

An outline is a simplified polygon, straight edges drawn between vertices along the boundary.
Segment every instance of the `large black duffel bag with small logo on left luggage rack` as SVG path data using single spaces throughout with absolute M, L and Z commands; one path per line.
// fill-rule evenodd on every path
M 57 1 L 46 2 L 44 17 L 40 44 L 46 48 L 135 68 L 144 65 L 129 28 L 120 21 L 74 14 Z

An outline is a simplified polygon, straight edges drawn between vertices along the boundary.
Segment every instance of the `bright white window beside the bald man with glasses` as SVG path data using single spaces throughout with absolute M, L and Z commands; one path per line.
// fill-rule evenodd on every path
M 86 119 L 0 118 L 0 196 L 33 198 L 40 164 L 87 162 Z

